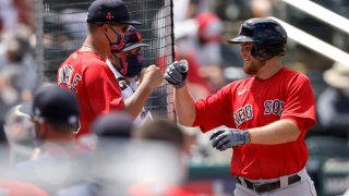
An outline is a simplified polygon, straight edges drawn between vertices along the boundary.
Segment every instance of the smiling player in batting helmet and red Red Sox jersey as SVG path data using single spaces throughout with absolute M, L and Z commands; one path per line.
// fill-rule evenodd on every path
M 315 99 L 309 78 L 281 64 L 287 34 L 269 19 L 245 21 L 239 36 L 244 72 L 215 95 L 193 101 L 185 85 L 185 61 L 174 62 L 165 78 L 174 86 L 179 122 L 216 130 L 210 139 L 218 150 L 233 149 L 234 195 L 316 195 L 305 171 L 304 135 L 315 122 Z

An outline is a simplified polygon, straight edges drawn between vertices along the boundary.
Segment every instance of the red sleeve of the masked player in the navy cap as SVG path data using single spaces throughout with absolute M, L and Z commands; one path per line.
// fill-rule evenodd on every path
M 95 113 L 123 109 L 118 81 L 107 64 L 95 64 L 85 70 L 85 90 Z

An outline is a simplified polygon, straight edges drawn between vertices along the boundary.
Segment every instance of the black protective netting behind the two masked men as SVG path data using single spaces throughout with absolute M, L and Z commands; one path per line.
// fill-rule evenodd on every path
M 71 52 L 82 46 L 86 36 L 87 8 L 93 0 L 37 0 L 36 1 L 36 58 L 39 83 L 56 82 L 58 66 Z M 143 25 L 136 26 L 143 41 L 144 64 L 156 64 L 165 71 L 173 61 L 173 25 L 171 0 L 128 0 L 130 17 Z M 171 89 L 165 83 L 152 94 L 146 108 L 172 113 Z

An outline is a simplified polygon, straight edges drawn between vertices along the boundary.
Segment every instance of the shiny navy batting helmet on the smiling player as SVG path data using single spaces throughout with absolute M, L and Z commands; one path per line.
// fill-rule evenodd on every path
M 228 42 L 255 42 L 251 54 L 261 61 L 266 61 L 274 56 L 285 54 L 287 34 L 276 21 L 255 17 L 245 21 L 240 27 L 239 36 Z

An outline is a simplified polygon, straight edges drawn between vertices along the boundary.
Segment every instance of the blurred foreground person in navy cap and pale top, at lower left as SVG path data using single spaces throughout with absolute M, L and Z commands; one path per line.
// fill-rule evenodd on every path
M 88 168 L 88 152 L 76 145 L 79 123 L 76 97 L 63 87 L 40 87 L 33 102 L 21 107 L 31 115 L 40 151 L 32 160 L 15 164 L 10 177 L 34 183 L 53 194 L 80 182 Z

